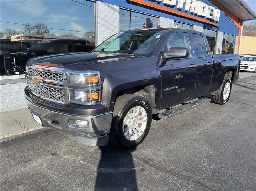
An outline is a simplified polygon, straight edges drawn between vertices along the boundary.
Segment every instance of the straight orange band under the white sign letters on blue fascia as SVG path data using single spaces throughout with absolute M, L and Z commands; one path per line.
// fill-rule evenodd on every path
M 145 2 L 145 1 L 141 1 L 141 0 L 127 0 L 127 1 L 135 2 L 135 3 L 140 4 L 140 5 L 148 6 L 148 7 L 154 8 L 154 9 L 159 9 L 159 10 L 161 10 L 161 11 L 169 12 L 169 13 L 172 13 L 172 14 L 175 14 L 175 15 L 179 15 L 179 16 L 182 16 L 182 17 L 186 17 L 186 18 L 190 18 L 190 19 L 193 19 L 193 20 L 202 22 L 202 23 L 211 24 L 211 25 L 213 25 L 213 26 L 215 26 L 215 27 L 218 27 L 218 26 L 219 26 L 219 24 L 217 24 L 217 23 L 213 23 L 213 22 L 210 22 L 210 21 L 206 21 L 206 20 L 204 20 L 204 19 L 197 18 L 197 17 L 193 17 L 193 16 L 191 16 L 191 15 L 186 15 L 185 13 L 178 12 L 178 11 L 174 11 L 174 10 L 171 10 L 171 9 L 167 9 L 167 8 L 165 8 L 165 7 L 161 7 L 161 6 L 158 6 L 158 5 L 154 5 L 154 4 Z

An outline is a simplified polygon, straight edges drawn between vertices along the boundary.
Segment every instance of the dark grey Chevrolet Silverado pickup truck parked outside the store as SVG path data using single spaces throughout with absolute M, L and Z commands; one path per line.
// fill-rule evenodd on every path
M 145 139 L 153 114 L 228 102 L 239 69 L 239 55 L 212 55 L 201 32 L 130 30 L 89 53 L 31 58 L 25 97 L 42 126 L 83 144 L 129 148 Z

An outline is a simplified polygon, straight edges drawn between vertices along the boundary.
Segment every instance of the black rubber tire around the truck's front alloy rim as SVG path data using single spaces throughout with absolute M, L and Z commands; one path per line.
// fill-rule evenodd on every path
M 143 134 L 137 139 L 130 141 L 124 135 L 123 120 L 126 114 L 135 106 L 141 106 L 147 113 L 146 129 Z M 152 109 L 146 99 L 134 94 L 124 94 L 117 98 L 114 105 L 113 119 L 111 124 L 111 130 L 109 133 L 109 141 L 120 148 L 136 147 L 145 139 L 148 135 L 152 122 Z

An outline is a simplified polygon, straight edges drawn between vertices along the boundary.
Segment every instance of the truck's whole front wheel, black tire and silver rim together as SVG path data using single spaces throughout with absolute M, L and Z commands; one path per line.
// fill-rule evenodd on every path
M 152 111 L 147 100 L 134 94 L 117 98 L 110 130 L 110 142 L 118 147 L 136 147 L 148 135 Z

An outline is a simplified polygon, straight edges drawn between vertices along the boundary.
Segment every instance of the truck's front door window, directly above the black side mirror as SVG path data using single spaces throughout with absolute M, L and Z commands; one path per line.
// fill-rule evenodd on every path
M 189 45 L 187 33 L 175 33 L 174 35 L 172 35 L 171 38 L 167 42 L 167 49 L 168 49 L 168 51 L 172 47 L 187 48 L 188 52 L 189 52 L 188 57 L 190 57 L 190 55 L 191 55 L 190 54 L 190 45 Z

